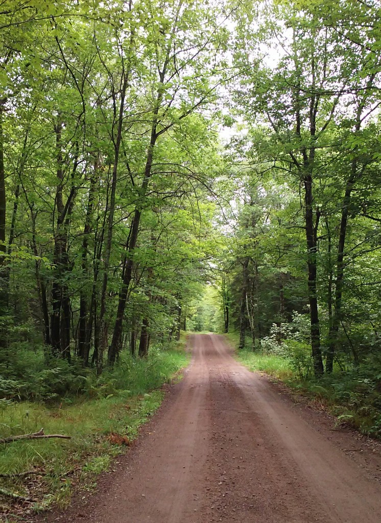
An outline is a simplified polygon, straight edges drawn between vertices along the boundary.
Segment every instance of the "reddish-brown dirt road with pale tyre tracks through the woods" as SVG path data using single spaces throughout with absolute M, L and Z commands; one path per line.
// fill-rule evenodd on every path
M 191 344 L 186 376 L 118 470 L 54 521 L 381 522 L 377 447 L 239 365 L 222 336 Z

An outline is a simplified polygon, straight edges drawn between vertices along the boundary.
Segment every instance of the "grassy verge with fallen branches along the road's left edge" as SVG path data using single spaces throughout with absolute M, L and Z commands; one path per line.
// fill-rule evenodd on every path
M 28 479 L 4 479 L 0 486 L 37 499 L 34 511 L 70 502 L 76 483 L 94 486 L 94 476 L 107 470 L 112 456 L 123 452 L 140 426 L 159 407 L 161 385 L 187 365 L 185 338 L 170 349 L 153 348 L 146 360 L 125 356 L 114 372 L 89 380 L 79 397 L 51 405 L 31 402 L 0 403 L 0 438 L 33 433 L 65 434 L 71 439 L 20 440 L 0 445 L 0 474 L 41 472 Z M 3 502 L 3 506 L 1 505 Z M 9 499 L 0 513 L 10 514 Z

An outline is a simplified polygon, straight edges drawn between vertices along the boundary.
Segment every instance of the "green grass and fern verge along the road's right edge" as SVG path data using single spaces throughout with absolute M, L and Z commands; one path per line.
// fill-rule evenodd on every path
M 379 363 L 368 362 L 349 372 L 337 369 L 330 376 L 302 380 L 287 359 L 250 348 L 238 350 L 238 334 L 229 333 L 226 337 L 236 349 L 238 361 L 250 371 L 264 372 L 283 381 L 317 408 L 336 416 L 337 426 L 351 426 L 362 434 L 381 438 L 381 374 L 376 372 Z

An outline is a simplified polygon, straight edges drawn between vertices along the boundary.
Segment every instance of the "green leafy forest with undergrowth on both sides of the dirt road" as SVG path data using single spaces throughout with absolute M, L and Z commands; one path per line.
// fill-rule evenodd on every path
M 380 18 L 378 0 L 0 2 L 4 503 L 64 505 L 62 474 L 99 434 L 134 436 L 188 332 L 381 436 Z M 7 444 L 40 425 L 72 441 Z

